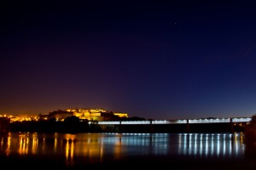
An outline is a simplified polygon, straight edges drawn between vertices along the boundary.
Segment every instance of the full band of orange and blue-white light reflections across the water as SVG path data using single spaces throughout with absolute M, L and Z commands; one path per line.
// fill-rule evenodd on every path
M 242 157 L 243 133 L 9 133 L 0 155 L 65 156 L 102 162 L 128 156 Z

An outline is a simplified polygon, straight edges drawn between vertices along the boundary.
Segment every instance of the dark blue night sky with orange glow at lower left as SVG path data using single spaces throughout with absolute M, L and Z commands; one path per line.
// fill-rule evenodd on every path
M 256 114 L 253 1 L 35 2 L 0 5 L 0 114 Z

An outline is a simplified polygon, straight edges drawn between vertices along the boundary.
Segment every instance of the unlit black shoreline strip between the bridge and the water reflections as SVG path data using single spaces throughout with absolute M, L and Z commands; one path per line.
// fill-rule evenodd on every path
M 88 122 L 11 122 L 10 132 L 44 133 L 240 133 L 234 123 L 99 125 Z

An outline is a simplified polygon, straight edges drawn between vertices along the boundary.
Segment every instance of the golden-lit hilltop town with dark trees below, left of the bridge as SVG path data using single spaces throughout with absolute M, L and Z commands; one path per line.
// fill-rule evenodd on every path
M 115 132 L 115 127 L 96 126 L 100 121 L 145 120 L 141 117 L 128 117 L 127 113 L 106 111 L 104 109 L 66 109 L 51 111 L 38 116 L 0 115 L 1 132 Z M 95 122 L 89 125 L 89 122 Z M 109 128 L 109 127 L 108 127 Z

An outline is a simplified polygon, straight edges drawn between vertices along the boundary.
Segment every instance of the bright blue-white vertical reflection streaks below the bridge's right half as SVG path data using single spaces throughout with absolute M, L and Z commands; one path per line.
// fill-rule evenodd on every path
M 179 155 L 243 156 L 245 144 L 242 133 L 184 133 L 179 134 Z

